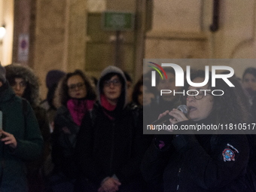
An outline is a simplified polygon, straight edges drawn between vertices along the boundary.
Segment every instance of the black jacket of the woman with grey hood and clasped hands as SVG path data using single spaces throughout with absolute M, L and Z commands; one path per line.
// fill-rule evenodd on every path
M 95 104 L 81 123 L 77 160 L 83 175 L 96 185 L 115 174 L 123 186 L 138 179 L 144 146 L 139 108 L 128 105 L 110 120 L 102 106 Z

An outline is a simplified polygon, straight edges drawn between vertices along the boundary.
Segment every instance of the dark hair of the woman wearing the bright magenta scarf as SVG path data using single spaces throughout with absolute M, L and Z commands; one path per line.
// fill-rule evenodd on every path
M 87 75 L 84 74 L 84 72 L 77 69 L 77 70 L 75 70 L 75 72 L 70 72 L 67 75 L 65 75 L 61 81 L 59 97 L 60 97 L 60 102 L 62 105 L 66 105 L 66 103 L 70 99 L 68 80 L 69 80 L 69 78 L 71 78 L 72 76 L 75 76 L 75 75 L 79 75 L 84 80 L 84 84 L 87 89 L 86 99 L 90 99 L 90 100 L 96 99 L 96 92 L 93 89 L 93 86 L 90 82 L 90 78 L 88 78 Z

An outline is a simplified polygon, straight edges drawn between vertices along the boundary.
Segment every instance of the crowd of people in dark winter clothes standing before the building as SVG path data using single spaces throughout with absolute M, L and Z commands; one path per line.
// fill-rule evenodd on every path
M 133 87 L 115 66 L 99 80 L 81 70 L 52 70 L 42 100 L 32 69 L 0 64 L 0 191 L 256 191 L 254 135 L 143 135 L 143 121 L 166 115 L 179 127 L 254 123 L 256 69 L 246 69 L 242 80 L 229 78 L 235 87 L 221 79 L 212 87 L 209 73 L 203 87 L 184 85 L 194 90 L 187 96 L 160 96 L 177 89 L 175 71 L 165 72 L 168 80 L 159 78 L 157 87 L 150 74 Z M 203 82 L 205 72 L 190 78 Z M 224 95 L 214 96 L 214 89 Z M 175 109 L 181 104 L 187 116 Z

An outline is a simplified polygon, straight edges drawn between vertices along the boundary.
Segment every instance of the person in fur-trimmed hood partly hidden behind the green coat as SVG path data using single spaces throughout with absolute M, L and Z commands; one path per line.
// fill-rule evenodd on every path
M 39 106 L 39 82 L 38 77 L 29 67 L 19 64 L 11 64 L 5 67 L 8 79 L 16 96 L 29 101 L 32 105 L 35 117 L 38 120 L 41 134 L 44 138 L 44 154 L 40 160 L 27 163 L 29 191 L 44 191 L 44 161 L 50 154 L 50 127 L 44 108 Z

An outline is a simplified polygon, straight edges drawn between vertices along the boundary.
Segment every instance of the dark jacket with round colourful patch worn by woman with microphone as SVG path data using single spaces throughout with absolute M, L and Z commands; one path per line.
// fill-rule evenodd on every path
M 161 150 L 159 140 L 166 144 Z M 254 191 L 248 154 L 245 135 L 156 136 L 142 160 L 142 175 L 164 191 Z

